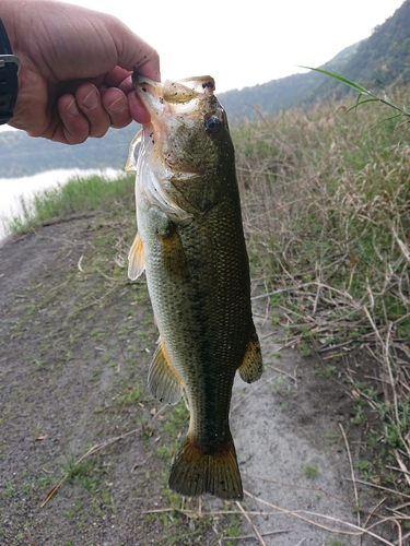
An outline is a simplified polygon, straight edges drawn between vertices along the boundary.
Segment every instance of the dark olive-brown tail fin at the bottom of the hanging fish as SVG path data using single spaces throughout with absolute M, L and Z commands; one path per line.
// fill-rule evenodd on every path
M 241 474 L 231 434 L 226 444 L 212 454 L 203 453 L 188 436 L 172 465 L 169 487 L 186 497 L 210 492 L 220 499 L 243 499 Z

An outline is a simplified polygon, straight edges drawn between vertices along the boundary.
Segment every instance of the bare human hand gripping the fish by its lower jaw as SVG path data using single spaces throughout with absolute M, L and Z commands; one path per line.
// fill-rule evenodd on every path
M 0 16 L 22 62 L 10 126 L 78 144 L 149 120 L 131 73 L 159 81 L 159 56 L 119 20 L 49 0 L 1 0 Z

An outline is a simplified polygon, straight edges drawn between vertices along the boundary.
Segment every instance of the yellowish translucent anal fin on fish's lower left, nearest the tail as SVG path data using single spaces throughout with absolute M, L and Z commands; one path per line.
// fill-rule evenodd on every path
M 169 363 L 162 340 L 150 366 L 148 384 L 152 394 L 161 402 L 176 404 L 183 395 L 183 382 Z

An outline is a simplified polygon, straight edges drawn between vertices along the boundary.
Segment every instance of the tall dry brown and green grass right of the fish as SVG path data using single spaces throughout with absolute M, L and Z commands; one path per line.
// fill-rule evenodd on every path
M 256 297 L 286 317 L 284 345 L 327 357 L 367 348 L 383 401 L 353 387 L 410 487 L 410 132 L 383 122 L 386 107 L 344 110 L 296 109 L 234 131 Z

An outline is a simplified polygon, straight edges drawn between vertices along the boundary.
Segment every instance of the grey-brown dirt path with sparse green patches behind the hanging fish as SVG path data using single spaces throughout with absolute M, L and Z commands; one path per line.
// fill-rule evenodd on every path
M 210 497 L 183 507 L 167 489 L 188 415 L 145 387 L 156 332 L 144 281 L 126 276 L 132 225 L 117 211 L 0 248 L 0 544 L 250 546 L 257 532 L 266 545 L 359 544 L 329 531 L 353 529 L 307 513 L 358 523 L 343 439 L 356 459 L 352 397 L 315 373 L 317 359 L 278 354 L 283 333 L 263 299 L 255 314 L 266 371 L 253 385 L 237 379 L 232 403 L 249 515 Z M 234 535 L 251 538 L 226 541 Z

